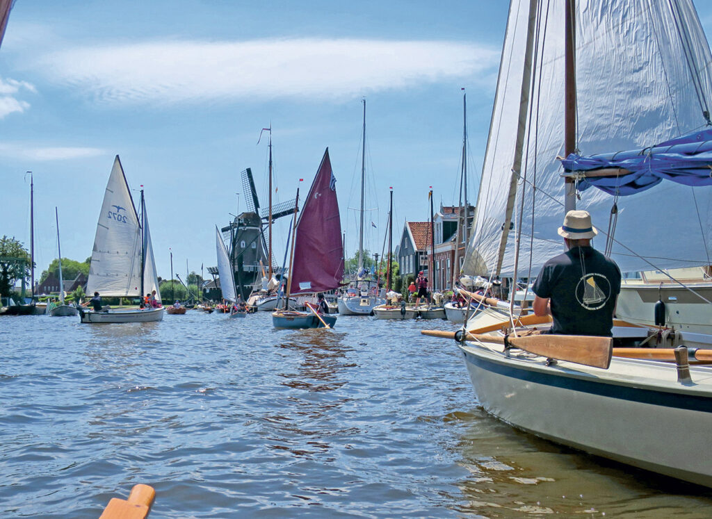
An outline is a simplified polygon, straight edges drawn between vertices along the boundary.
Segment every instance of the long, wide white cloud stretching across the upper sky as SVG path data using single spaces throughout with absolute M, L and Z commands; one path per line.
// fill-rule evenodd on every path
M 477 80 L 499 51 L 473 43 L 373 40 L 147 42 L 51 53 L 39 70 L 105 103 L 351 98 Z

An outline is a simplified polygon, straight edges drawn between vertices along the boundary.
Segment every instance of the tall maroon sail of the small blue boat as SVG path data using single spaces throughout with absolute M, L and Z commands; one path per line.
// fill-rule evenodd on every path
M 344 277 L 343 251 L 336 177 L 327 148 L 297 222 L 292 293 L 339 287 Z

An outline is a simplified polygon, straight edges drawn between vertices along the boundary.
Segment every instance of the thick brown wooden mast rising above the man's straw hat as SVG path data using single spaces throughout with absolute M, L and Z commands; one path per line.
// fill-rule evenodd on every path
M 576 150 L 576 6 L 575 0 L 566 0 L 565 12 L 565 83 L 564 83 L 564 157 Z M 576 184 L 565 180 L 565 211 L 576 209 Z

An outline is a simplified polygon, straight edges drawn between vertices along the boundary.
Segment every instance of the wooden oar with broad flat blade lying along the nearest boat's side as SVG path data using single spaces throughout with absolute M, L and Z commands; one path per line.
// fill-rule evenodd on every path
M 440 330 L 422 330 L 423 335 L 455 339 L 455 332 Z M 505 343 L 500 335 L 481 335 L 467 333 L 466 340 Z M 593 337 L 589 335 L 525 335 L 508 337 L 510 345 L 535 355 L 551 359 L 566 360 L 592 367 L 607 369 L 611 364 L 613 339 L 611 337 Z

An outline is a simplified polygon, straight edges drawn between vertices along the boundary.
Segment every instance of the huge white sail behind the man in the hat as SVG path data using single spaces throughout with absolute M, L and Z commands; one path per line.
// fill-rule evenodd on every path
M 513 136 L 520 123 L 525 125 L 521 167 L 515 172 L 516 200 L 509 204 L 513 230 L 498 273 L 513 273 L 518 218 L 519 276 L 535 276 L 548 258 L 563 251 L 556 231 L 564 216 L 557 157 L 563 154 L 564 139 L 565 3 L 539 2 L 539 37 L 530 55 L 532 82 L 522 119 L 530 4 L 536 2 L 513 0 L 510 7 L 476 223 L 464 266 L 470 275 L 497 273 L 517 151 Z M 577 146 L 582 154 L 647 147 L 705 127 L 703 110 L 709 110 L 706 102 L 712 99 L 712 56 L 690 0 L 580 0 L 576 9 Z M 705 241 L 712 234 L 710 189 L 661 182 L 618 199 L 612 258 L 621 270 L 709 264 Z M 600 249 L 612 204 L 612 196 L 595 188 L 577 201 L 577 209 L 592 215 L 599 231 L 595 246 Z

